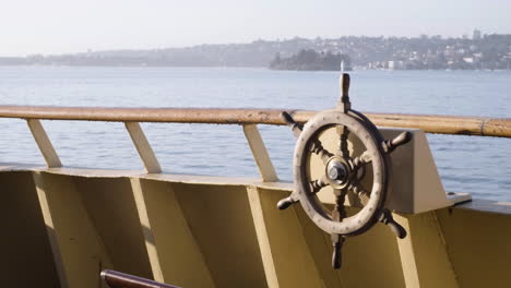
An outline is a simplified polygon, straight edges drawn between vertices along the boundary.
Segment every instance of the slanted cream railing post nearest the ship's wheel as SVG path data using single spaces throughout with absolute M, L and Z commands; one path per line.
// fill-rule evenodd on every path
M 263 181 L 278 181 L 278 177 L 276 175 L 275 168 L 273 167 L 272 159 L 270 158 L 261 134 L 259 133 L 258 125 L 245 124 L 243 132 Z

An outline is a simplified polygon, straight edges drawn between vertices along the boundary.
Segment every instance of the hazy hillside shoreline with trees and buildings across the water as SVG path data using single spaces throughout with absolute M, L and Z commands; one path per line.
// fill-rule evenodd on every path
M 320 57 L 300 58 L 300 51 Z M 289 61 L 275 61 L 276 58 Z M 309 55 L 310 56 L 310 55 Z M 330 60 L 321 58 L 330 58 Z M 336 58 L 337 57 L 337 58 Z M 355 37 L 257 40 L 153 50 L 87 51 L 71 55 L 0 57 L 1 65 L 69 67 L 271 67 L 335 71 L 338 57 L 365 70 L 511 70 L 511 35 L 472 38 Z M 334 59 L 336 58 L 336 59 Z M 273 63 L 273 65 L 272 65 Z

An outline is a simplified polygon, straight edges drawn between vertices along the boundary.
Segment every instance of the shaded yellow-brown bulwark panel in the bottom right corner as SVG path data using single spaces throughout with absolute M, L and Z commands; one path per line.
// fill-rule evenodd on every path
M 511 215 L 436 212 L 460 287 L 511 287 Z

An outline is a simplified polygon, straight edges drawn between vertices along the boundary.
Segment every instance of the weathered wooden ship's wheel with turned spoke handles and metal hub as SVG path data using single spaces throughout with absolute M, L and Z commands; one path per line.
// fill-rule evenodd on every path
M 391 167 L 389 154 L 412 137 L 409 132 L 403 132 L 394 140 L 385 141 L 368 118 L 350 108 L 348 74 L 342 75 L 341 86 L 338 106 L 317 113 L 305 125 L 297 123 L 289 113 L 282 113 L 298 140 L 294 153 L 295 190 L 277 204 L 280 209 L 285 209 L 300 202 L 309 218 L 332 235 L 334 268 L 341 267 L 341 248 L 345 238 L 363 233 L 378 221 L 387 224 L 399 238 L 406 236 L 404 228 L 393 220 L 384 205 Z M 320 136 L 330 129 L 338 133 L 338 145 L 333 151 L 328 151 L 320 141 Z M 348 137 L 361 143 L 364 151 L 356 156 L 352 155 Z M 317 179 L 311 179 L 309 169 L 312 154 L 318 155 L 324 166 L 322 176 Z M 369 189 L 361 183 L 368 177 L 366 171 L 372 171 L 372 183 L 369 183 L 370 187 L 366 183 Z M 335 195 L 333 209 L 329 209 L 318 199 L 318 193 L 324 187 L 331 187 Z M 363 205 L 352 216 L 347 216 L 344 206 L 348 194 L 357 197 Z

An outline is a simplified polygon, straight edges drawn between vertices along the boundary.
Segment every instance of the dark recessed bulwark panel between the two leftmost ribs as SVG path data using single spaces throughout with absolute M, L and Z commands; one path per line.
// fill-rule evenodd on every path
M 74 183 L 114 268 L 152 278 L 130 180 L 74 178 Z

